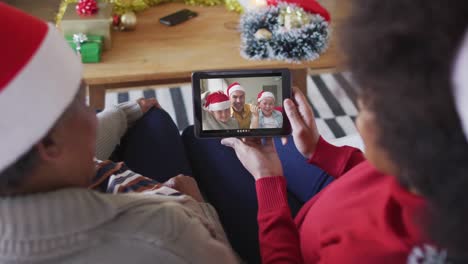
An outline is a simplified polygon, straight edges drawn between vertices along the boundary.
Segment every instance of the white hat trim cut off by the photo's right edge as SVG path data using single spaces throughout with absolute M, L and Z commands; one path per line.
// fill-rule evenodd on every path
M 453 83 L 455 107 L 468 140 L 468 31 L 455 60 Z

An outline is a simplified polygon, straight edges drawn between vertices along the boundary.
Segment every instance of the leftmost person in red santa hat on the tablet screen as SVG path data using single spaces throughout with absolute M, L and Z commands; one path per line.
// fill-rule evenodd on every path
M 223 91 L 208 93 L 202 111 L 203 130 L 238 129 L 237 120 L 231 117 L 229 97 Z

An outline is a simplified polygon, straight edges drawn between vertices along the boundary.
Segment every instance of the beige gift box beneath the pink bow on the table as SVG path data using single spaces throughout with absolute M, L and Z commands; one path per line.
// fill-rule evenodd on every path
M 109 50 L 111 42 L 112 4 L 99 3 L 99 11 L 94 15 L 78 15 L 74 4 L 68 4 L 59 24 L 64 36 L 72 36 L 77 32 L 88 36 L 103 36 L 104 50 Z

